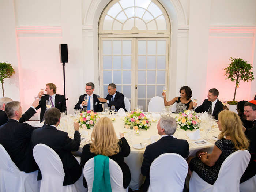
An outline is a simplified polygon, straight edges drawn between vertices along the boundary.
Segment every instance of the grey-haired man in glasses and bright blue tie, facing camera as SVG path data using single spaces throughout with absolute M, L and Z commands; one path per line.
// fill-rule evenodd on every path
M 94 112 L 102 112 L 102 104 L 99 102 L 96 94 L 93 94 L 94 84 L 92 82 L 86 83 L 85 92 L 86 94 L 80 95 L 78 102 L 76 103 L 74 109 L 82 109 L 87 107 L 87 110 L 93 110 Z M 87 95 L 88 101 L 84 101 L 84 96 Z M 88 105 L 87 105 L 88 104 Z

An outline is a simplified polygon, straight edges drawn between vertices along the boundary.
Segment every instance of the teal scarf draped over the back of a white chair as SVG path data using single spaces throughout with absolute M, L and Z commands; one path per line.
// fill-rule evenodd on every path
M 109 157 L 104 155 L 94 156 L 94 178 L 92 192 L 111 192 Z

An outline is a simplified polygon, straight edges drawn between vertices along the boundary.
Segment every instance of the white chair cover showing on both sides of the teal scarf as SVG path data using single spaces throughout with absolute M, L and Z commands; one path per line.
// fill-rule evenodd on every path
M 94 158 L 85 163 L 83 174 L 87 182 L 88 192 L 91 192 L 93 190 Z M 128 192 L 128 187 L 126 189 L 123 187 L 123 172 L 120 166 L 112 159 L 109 159 L 109 174 L 112 192 Z

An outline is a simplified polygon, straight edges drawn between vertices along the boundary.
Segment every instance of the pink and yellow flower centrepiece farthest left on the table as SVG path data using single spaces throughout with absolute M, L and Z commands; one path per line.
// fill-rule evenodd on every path
M 99 119 L 98 114 L 93 112 L 93 110 L 82 112 L 79 115 L 80 117 L 78 119 L 78 123 L 83 129 L 90 129 L 90 127 L 93 127 L 96 121 Z

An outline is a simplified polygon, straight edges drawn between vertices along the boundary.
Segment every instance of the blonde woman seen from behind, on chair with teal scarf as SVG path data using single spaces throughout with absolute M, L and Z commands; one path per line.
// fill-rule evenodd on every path
M 130 146 L 124 138 L 124 133 L 119 133 L 117 138 L 114 126 L 108 117 L 100 118 L 94 125 L 91 133 L 92 143 L 83 147 L 81 166 L 96 155 L 105 155 L 113 159 L 121 167 L 123 172 L 123 187 L 127 188 L 131 181 L 131 172 L 128 165 L 124 162 L 124 157 L 130 154 Z M 85 178 L 83 185 L 87 187 Z

